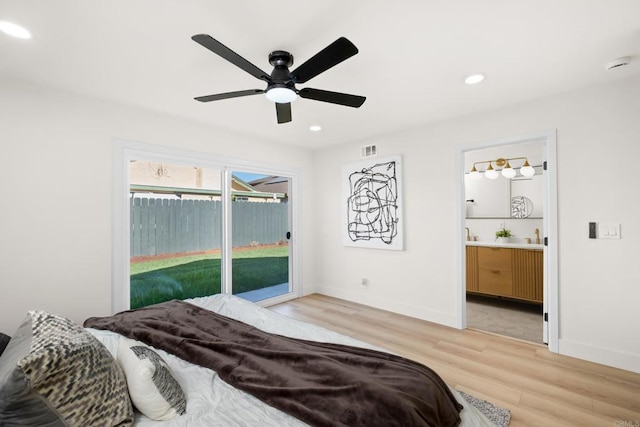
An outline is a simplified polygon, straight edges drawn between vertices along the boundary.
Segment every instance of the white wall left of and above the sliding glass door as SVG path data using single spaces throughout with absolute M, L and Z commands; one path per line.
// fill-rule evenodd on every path
M 193 122 L 18 81 L 0 80 L 0 94 L 0 331 L 9 334 L 29 309 L 77 322 L 109 314 L 114 138 L 310 169 L 307 151 Z M 303 172 L 303 187 L 310 179 Z M 313 247 L 302 253 L 313 259 Z M 314 264 L 302 265 L 311 281 Z

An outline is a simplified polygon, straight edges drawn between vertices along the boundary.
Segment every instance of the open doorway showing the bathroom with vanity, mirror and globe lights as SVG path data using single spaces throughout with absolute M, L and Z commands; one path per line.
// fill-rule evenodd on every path
M 557 351 L 557 244 L 548 244 L 557 217 L 551 159 L 555 163 L 555 132 L 460 150 L 461 327 Z M 487 178 L 487 170 L 498 176 Z M 498 242 L 501 230 L 506 236 Z

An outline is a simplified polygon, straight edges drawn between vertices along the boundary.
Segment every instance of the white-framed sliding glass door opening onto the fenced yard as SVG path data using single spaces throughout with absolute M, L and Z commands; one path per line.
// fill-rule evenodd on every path
M 114 244 L 127 254 L 116 256 L 125 285 L 114 285 L 114 311 L 218 293 L 294 295 L 294 176 L 135 150 L 125 159 L 127 215 Z

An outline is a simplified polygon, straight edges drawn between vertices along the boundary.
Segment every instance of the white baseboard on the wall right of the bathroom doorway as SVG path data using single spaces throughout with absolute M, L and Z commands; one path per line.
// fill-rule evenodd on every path
M 640 374 L 640 355 L 560 339 L 558 353 Z

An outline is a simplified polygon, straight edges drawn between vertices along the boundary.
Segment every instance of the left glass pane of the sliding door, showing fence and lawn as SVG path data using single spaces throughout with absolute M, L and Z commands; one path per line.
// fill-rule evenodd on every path
M 221 173 L 129 164 L 130 305 L 220 293 Z

